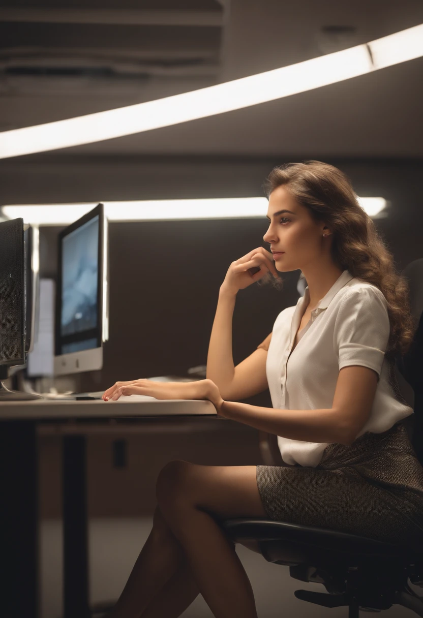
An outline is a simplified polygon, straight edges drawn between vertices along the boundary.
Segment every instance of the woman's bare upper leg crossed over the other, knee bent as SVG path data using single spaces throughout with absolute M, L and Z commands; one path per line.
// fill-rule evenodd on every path
M 156 495 L 213 615 L 257 618 L 247 574 L 219 525 L 223 519 L 267 517 L 256 467 L 173 461 L 161 470 Z

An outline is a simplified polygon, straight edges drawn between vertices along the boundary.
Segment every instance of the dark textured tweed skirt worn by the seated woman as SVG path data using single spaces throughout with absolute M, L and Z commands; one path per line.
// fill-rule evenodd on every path
M 329 444 L 315 468 L 258 465 L 257 486 L 272 520 L 423 541 L 423 467 L 401 423 L 349 446 Z

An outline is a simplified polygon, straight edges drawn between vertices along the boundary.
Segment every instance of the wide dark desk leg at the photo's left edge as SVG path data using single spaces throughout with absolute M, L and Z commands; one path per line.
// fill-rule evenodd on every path
M 38 618 L 36 424 L 0 424 L 0 614 Z

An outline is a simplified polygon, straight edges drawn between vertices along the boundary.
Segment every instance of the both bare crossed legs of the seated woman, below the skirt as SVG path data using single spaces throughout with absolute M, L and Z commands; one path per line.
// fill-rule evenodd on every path
M 255 473 L 181 460 L 164 466 L 152 531 L 108 618 L 177 618 L 199 593 L 216 618 L 257 618 L 247 574 L 219 525 L 268 517 Z

